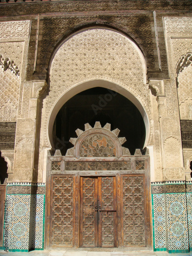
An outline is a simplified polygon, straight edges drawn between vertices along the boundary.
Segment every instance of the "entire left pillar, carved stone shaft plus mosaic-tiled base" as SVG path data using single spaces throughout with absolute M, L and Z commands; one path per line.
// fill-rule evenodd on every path
M 37 183 L 40 107 L 45 81 L 24 83 L 16 123 L 13 182 L 7 186 L 9 251 L 44 247 L 45 183 Z M 8 153 L 3 154 L 8 157 Z M 37 220 L 38 218 L 38 220 Z

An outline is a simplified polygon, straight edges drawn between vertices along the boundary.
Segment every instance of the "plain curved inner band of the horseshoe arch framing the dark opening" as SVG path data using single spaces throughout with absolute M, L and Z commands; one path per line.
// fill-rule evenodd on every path
M 49 117 L 49 124 L 48 124 L 49 125 L 48 126 L 49 140 L 50 140 L 52 147 L 54 147 L 53 137 L 52 137 L 53 124 L 54 124 L 56 115 L 57 115 L 58 111 L 61 109 L 61 107 L 63 106 L 63 104 L 65 104 L 74 95 L 76 95 L 82 91 L 85 91 L 85 90 L 88 90 L 91 88 L 95 88 L 95 87 L 102 87 L 102 88 L 113 90 L 113 91 L 123 95 L 127 99 L 129 99 L 136 106 L 136 108 L 139 110 L 139 112 L 143 118 L 144 124 L 145 124 L 146 137 L 145 137 L 145 142 L 144 142 L 144 146 L 143 146 L 143 147 L 145 147 L 147 145 L 148 137 L 150 135 L 150 123 L 149 123 L 147 111 L 145 110 L 145 108 L 142 105 L 142 103 L 140 102 L 140 100 L 135 95 L 130 93 L 125 88 L 119 86 L 118 84 L 115 84 L 110 81 L 99 80 L 99 79 L 78 84 L 77 86 L 73 87 L 71 90 L 69 90 L 65 94 L 63 94 L 55 102 L 54 107 L 51 111 L 51 115 Z

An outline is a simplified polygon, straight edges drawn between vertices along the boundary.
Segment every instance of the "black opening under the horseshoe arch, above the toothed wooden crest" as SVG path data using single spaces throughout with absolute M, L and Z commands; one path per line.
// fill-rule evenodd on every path
M 75 130 L 84 131 L 85 123 L 94 127 L 96 121 L 102 127 L 111 123 L 111 130 L 118 128 L 119 137 L 126 138 L 123 146 L 132 155 L 136 148 L 143 148 L 145 125 L 136 106 L 121 94 L 101 87 L 83 91 L 62 106 L 53 126 L 55 148 L 65 155 L 73 146 L 69 139 L 77 137 Z

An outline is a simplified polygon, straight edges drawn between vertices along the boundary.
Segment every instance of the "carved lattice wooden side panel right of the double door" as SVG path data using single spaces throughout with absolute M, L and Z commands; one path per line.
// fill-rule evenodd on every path
M 143 176 L 122 177 L 123 246 L 145 246 Z

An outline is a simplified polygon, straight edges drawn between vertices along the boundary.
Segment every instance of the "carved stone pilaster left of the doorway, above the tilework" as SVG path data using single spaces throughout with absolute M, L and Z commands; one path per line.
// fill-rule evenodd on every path
M 17 119 L 16 125 L 13 181 L 36 181 L 34 156 L 37 105 L 39 91 L 44 86 L 45 81 L 26 82 L 24 85 L 22 115 Z

